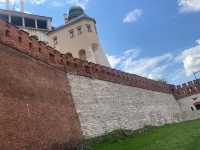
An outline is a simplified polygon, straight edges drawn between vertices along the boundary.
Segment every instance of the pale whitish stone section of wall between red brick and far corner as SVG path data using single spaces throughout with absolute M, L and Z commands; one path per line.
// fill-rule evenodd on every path
M 68 74 L 72 96 L 85 137 L 115 129 L 139 129 L 181 120 L 169 93 Z

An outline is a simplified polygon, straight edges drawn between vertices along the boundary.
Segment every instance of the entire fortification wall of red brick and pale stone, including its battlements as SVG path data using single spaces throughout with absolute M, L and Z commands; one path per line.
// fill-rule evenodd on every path
M 179 104 L 200 93 L 199 80 L 176 87 L 82 61 L 2 21 L 0 43 L 0 149 L 74 145 L 80 123 L 92 137 L 181 121 Z

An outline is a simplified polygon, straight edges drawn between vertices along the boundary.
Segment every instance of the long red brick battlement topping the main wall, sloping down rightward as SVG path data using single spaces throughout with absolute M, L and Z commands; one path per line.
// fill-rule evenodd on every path
M 0 21 L 0 43 L 67 73 L 157 92 L 172 93 L 171 86 L 168 84 L 83 61 L 70 55 L 63 55 L 44 42 L 29 37 L 28 33 L 3 21 Z

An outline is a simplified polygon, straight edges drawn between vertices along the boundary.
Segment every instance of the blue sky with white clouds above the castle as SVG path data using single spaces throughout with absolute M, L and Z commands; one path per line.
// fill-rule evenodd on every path
M 72 5 L 96 19 L 112 67 L 174 84 L 200 70 L 200 0 L 25 0 L 27 12 L 53 17 L 54 26 Z

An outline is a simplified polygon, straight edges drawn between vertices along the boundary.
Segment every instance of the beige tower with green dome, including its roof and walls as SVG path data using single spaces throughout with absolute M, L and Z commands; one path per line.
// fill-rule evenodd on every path
M 96 21 L 80 6 L 71 7 L 65 15 L 65 25 L 50 32 L 49 37 L 51 45 L 64 54 L 110 66 L 99 42 Z

